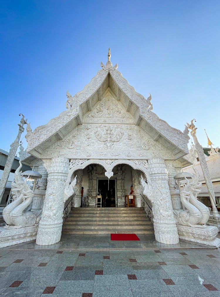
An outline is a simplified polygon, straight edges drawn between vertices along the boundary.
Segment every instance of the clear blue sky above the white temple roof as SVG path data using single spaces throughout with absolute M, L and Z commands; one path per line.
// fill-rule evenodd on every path
M 200 143 L 206 128 L 220 147 L 219 0 L 18 0 L 0 11 L 0 148 L 15 139 L 20 112 L 35 129 L 65 110 L 67 89 L 81 91 L 109 47 L 160 118 L 183 131 L 195 117 Z

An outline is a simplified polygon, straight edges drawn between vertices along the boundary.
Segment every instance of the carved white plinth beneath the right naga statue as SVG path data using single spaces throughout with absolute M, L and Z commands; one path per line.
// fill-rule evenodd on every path
M 177 225 L 177 231 L 179 234 L 179 238 L 181 239 L 194 241 L 201 244 L 208 244 L 213 247 L 220 247 L 220 239 L 216 238 L 219 230 L 214 226 L 197 228 Z

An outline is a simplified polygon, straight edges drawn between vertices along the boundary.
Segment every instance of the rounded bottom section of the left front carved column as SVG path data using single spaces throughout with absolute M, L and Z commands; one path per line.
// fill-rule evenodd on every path
M 44 225 L 41 223 L 41 228 L 38 229 L 36 244 L 48 245 L 55 244 L 60 241 L 63 221 L 53 225 Z

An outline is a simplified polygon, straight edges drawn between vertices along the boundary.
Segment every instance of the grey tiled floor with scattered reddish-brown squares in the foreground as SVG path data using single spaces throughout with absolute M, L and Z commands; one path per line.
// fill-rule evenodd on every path
M 0 250 L 0 296 L 220 296 L 220 250 Z

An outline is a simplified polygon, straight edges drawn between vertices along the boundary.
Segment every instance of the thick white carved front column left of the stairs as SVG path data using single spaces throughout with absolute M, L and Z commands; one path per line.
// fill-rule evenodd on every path
M 36 244 L 47 245 L 60 241 L 63 225 L 63 192 L 69 159 L 54 157 L 48 169 L 47 190 Z

